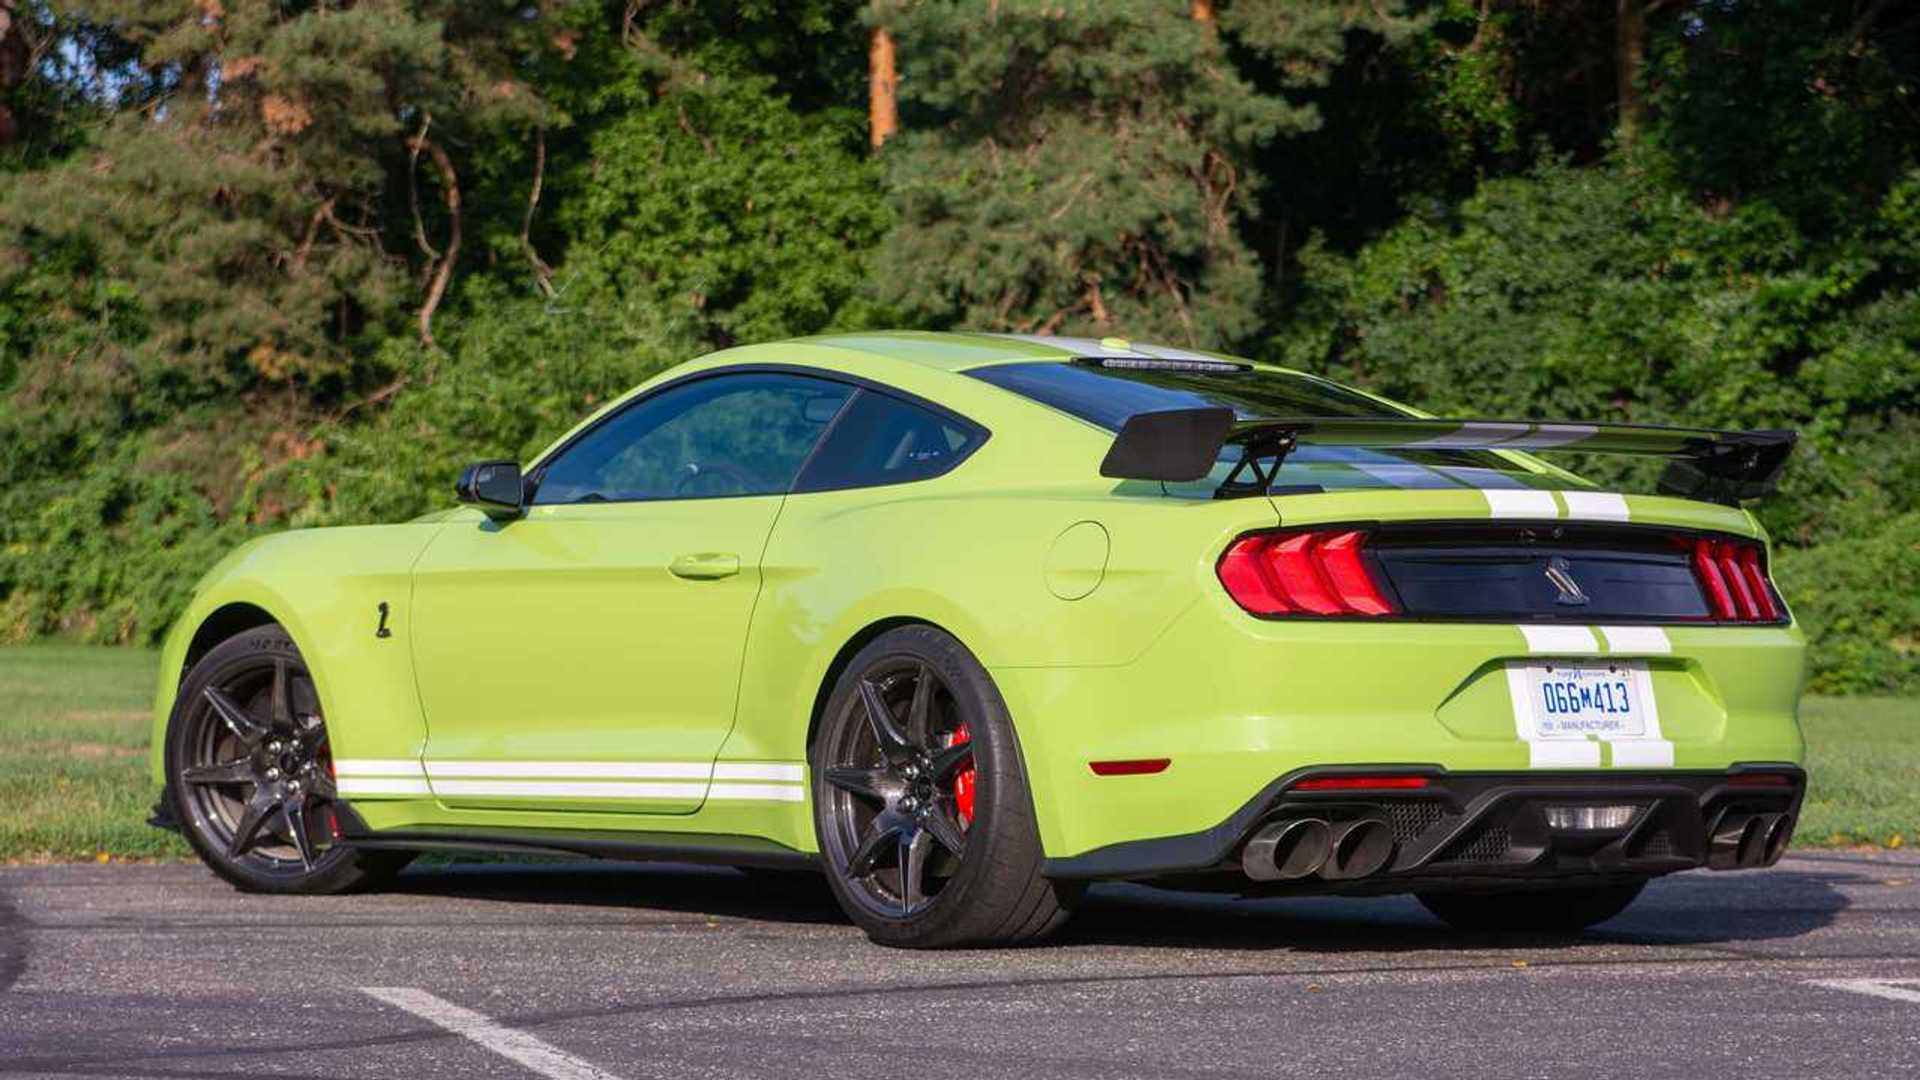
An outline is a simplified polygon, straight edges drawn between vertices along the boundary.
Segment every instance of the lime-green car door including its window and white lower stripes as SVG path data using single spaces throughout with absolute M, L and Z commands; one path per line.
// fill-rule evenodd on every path
M 699 809 L 768 532 L 851 392 L 778 371 L 674 382 L 536 465 L 522 519 L 440 532 L 413 584 L 434 794 Z

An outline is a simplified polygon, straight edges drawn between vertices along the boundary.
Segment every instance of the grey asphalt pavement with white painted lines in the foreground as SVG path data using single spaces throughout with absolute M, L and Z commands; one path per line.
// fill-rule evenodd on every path
M 1050 944 L 970 953 L 876 947 L 824 894 L 718 869 L 263 897 L 12 867 L 0 1076 L 1920 1076 L 1920 859 L 1680 874 L 1574 940 L 1102 886 Z

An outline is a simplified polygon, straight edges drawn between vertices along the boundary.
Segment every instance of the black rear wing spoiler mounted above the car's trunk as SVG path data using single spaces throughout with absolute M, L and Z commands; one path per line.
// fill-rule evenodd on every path
M 1415 417 L 1235 419 L 1233 409 L 1164 409 L 1121 425 L 1100 475 L 1121 480 L 1198 480 L 1229 444 L 1240 463 L 1219 496 L 1265 492 L 1296 446 L 1365 450 L 1571 450 L 1668 457 L 1661 494 L 1738 505 L 1772 494 L 1793 442 L 1791 430 L 1713 430 L 1692 427 L 1457 421 Z M 1271 459 L 1271 465 L 1263 461 Z

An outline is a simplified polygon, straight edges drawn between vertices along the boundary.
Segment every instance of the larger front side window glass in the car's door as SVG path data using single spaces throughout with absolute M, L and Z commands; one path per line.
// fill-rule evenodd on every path
M 662 390 L 561 450 L 540 469 L 534 503 L 785 494 L 851 394 L 778 373 Z

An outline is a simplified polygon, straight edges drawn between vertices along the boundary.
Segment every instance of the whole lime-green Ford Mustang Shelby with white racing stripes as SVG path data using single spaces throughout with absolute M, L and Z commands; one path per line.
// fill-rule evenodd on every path
M 1578 928 L 1793 830 L 1803 636 L 1740 507 L 1791 444 L 1116 338 L 726 350 L 463 507 L 207 573 L 156 821 L 261 892 L 434 847 L 824 871 L 891 945 L 1116 878 Z

